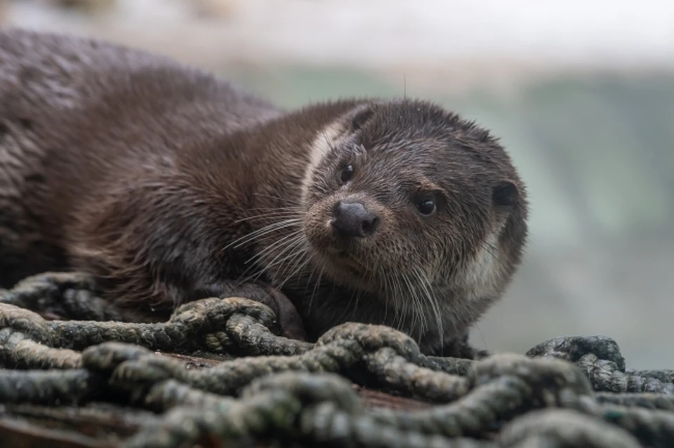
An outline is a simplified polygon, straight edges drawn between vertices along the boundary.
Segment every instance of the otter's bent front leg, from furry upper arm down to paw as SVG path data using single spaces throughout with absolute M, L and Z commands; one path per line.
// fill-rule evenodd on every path
M 199 192 L 158 174 L 123 179 L 81 205 L 71 232 L 74 267 L 93 274 L 105 297 L 159 319 L 185 301 L 245 297 L 272 308 L 284 336 L 305 339 L 299 314 L 284 294 L 222 278 L 227 266 L 217 258 L 222 243 L 211 224 L 218 217 L 199 201 Z

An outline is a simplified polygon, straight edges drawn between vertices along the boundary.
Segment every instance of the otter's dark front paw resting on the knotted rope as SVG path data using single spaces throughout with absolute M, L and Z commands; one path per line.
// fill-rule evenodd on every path
M 281 335 L 289 339 L 307 340 L 304 325 L 297 309 L 285 294 L 275 287 L 258 283 L 237 283 L 223 280 L 217 284 L 199 287 L 190 296 L 190 300 L 206 297 L 244 297 L 259 301 L 272 308 L 281 327 Z

